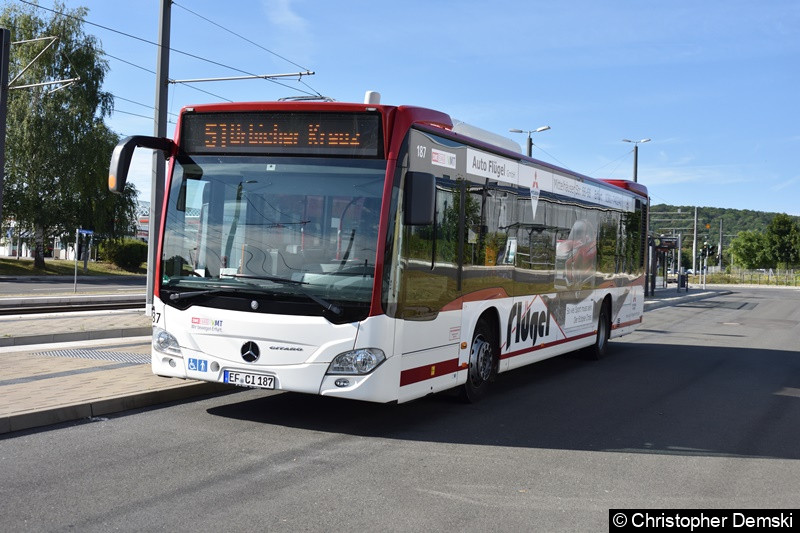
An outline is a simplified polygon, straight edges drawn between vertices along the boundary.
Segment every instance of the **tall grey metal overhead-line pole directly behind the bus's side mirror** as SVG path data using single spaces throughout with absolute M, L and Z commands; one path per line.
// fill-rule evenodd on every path
M 172 0 L 161 0 L 161 15 L 158 26 L 158 66 L 156 68 L 155 127 L 156 137 L 167 136 L 168 78 L 169 78 L 169 37 Z M 150 218 L 147 239 L 147 307 L 149 316 L 153 310 L 153 290 L 155 287 L 156 258 L 158 254 L 158 232 L 161 229 L 161 206 L 164 203 L 164 175 L 166 161 L 161 150 L 153 151 L 153 179 L 150 188 Z

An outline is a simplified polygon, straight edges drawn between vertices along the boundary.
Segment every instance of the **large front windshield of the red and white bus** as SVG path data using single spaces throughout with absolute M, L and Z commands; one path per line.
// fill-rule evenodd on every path
M 179 156 L 162 289 L 173 301 L 226 293 L 367 306 L 385 172 L 376 159 Z

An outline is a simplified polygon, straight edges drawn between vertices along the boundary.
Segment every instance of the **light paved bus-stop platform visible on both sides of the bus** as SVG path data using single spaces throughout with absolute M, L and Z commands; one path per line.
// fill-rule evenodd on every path
M 726 292 L 656 289 L 645 311 Z M 0 435 L 238 390 L 153 375 L 150 324 L 144 310 L 0 316 Z

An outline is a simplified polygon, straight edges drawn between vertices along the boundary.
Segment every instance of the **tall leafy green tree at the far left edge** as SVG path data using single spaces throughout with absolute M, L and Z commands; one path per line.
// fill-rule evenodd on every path
M 67 10 L 56 2 L 53 15 L 42 19 L 31 6 L 8 5 L 0 25 L 11 40 L 57 36 L 14 86 L 80 78 L 69 86 L 12 90 L 8 99 L 4 214 L 33 232 L 35 264 L 44 267 L 44 243 L 54 235 L 72 234 L 77 226 L 118 236 L 134 216 L 135 189 L 121 198 L 107 192 L 108 160 L 118 136 L 103 118 L 113 99 L 101 90 L 108 71 L 97 40 L 83 31 L 85 8 Z M 13 78 L 42 51 L 44 43 L 12 46 Z

